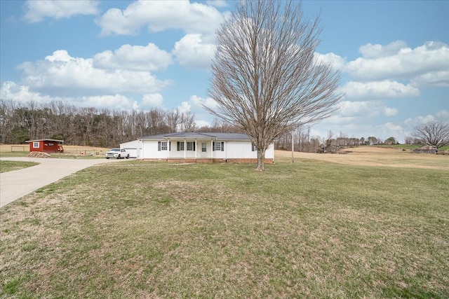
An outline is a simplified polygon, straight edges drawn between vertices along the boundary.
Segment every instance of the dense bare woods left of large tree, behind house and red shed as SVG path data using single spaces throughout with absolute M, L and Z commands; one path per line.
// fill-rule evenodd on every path
M 194 130 L 231 130 L 214 121 L 213 127 L 197 127 L 195 114 L 179 109 L 118 111 L 79 108 L 62 101 L 45 104 L 0 99 L 0 143 L 24 144 L 34 139 L 60 139 L 81 146 L 118 146 L 122 142 L 155 134 Z

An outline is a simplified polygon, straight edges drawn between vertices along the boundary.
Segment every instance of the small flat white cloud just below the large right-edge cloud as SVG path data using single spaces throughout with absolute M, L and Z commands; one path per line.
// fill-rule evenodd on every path
M 356 82 L 351 81 L 342 86 L 347 99 L 387 99 L 396 97 L 418 97 L 420 90 L 411 85 L 396 81 Z

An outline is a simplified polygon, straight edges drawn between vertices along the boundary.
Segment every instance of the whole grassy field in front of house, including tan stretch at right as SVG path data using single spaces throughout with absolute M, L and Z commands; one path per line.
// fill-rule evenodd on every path
M 0 209 L 0 297 L 448 298 L 449 157 L 368 148 L 77 172 Z

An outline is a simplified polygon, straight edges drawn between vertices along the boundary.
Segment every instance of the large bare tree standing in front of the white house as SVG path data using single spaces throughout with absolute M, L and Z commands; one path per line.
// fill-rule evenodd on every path
M 340 72 L 319 62 L 318 18 L 304 19 L 296 1 L 239 1 L 217 30 L 210 96 L 217 118 L 254 138 L 257 169 L 281 134 L 330 116 L 340 99 Z

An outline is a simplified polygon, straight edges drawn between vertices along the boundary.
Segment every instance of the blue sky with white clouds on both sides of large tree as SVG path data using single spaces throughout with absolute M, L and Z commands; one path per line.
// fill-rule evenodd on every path
M 233 1 L 0 1 L 0 96 L 98 109 L 190 111 L 208 97 L 214 32 Z M 449 1 L 302 1 L 319 60 L 342 70 L 327 137 L 395 137 L 449 121 Z

